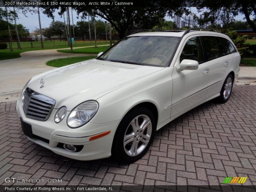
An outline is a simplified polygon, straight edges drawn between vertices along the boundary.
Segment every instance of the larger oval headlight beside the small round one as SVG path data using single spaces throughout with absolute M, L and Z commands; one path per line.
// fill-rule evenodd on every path
M 68 115 L 67 124 L 70 128 L 81 127 L 89 122 L 97 113 L 99 104 L 96 101 L 86 101 L 76 106 Z

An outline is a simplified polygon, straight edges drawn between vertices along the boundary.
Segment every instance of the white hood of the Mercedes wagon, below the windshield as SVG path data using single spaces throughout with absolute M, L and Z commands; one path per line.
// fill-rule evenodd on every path
M 56 100 L 54 108 L 72 110 L 86 100 L 97 98 L 125 84 L 162 70 L 161 67 L 90 60 L 54 69 L 32 81 L 28 87 Z M 40 81 L 44 80 L 44 87 Z

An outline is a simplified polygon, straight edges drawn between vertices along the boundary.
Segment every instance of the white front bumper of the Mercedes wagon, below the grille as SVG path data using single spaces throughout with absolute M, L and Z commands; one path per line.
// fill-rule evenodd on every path
M 88 122 L 82 127 L 72 129 L 66 124 L 69 112 L 67 112 L 60 123 L 56 124 L 54 122 L 54 115 L 58 109 L 52 110 L 52 114 L 47 121 L 27 118 L 24 114 L 20 98 L 17 100 L 16 109 L 23 122 L 31 124 L 32 132 L 37 136 L 34 138 L 28 137 L 28 139 L 50 149 L 54 153 L 77 160 L 94 160 L 111 156 L 113 138 L 120 121 L 104 124 Z M 108 130 L 111 131 L 108 135 L 89 141 L 91 136 Z M 79 152 L 70 152 L 60 148 L 58 146 L 59 143 L 83 145 L 84 147 Z

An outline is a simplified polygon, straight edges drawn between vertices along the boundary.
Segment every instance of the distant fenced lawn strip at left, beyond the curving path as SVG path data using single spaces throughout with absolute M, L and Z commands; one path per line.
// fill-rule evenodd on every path
M 22 42 L 22 43 L 27 43 L 27 42 Z M 39 42 L 40 43 L 40 42 Z M 98 45 L 104 45 L 106 44 L 106 41 L 101 41 L 101 43 L 97 43 Z M 93 43 L 92 43 L 93 45 Z M 82 47 L 82 46 L 90 46 L 90 44 L 80 44 L 80 45 L 74 45 L 74 47 Z M 22 48 L 22 45 L 21 45 Z M 59 46 L 52 46 L 52 47 L 44 47 L 44 49 L 61 49 L 61 48 L 68 48 L 68 46 L 63 46 L 63 45 L 59 45 Z M 15 58 L 19 58 L 20 57 L 20 53 L 22 52 L 26 52 L 26 51 L 35 51 L 35 50 L 42 50 L 41 47 L 34 47 L 34 48 L 22 48 L 21 50 L 14 49 L 13 51 L 10 51 L 10 49 L 2 49 L 0 50 L 0 60 L 7 60 L 7 59 L 15 59 Z M 70 50 L 66 50 L 67 52 L 70 52 Z

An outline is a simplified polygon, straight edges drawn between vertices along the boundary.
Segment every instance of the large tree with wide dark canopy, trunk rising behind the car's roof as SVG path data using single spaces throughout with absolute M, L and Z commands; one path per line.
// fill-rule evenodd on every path
M 46 0 L 42 0 L 44 2 Z M 49 17 L 53 18 L 53 12 L 59 9 L 60 0 L 57 0 L 58 5 L 55 6 L 42 6 L 44 8 L 44 13 Z M 78 2 L 78 1 L 77 1 Z M 115 3 L 115 0 L 109 1 Z M 91 16 L 100 16 L 101 18 L 107 20 L 111 25 L 116 28 L 119 33 L 119 38 L 123 38 L 128 29 L 132 28 L 134 25 L 141 23 L 154 23 L 159 18 L 164 18 L 166 12 L 171 15 L 174 11 L 178 12 L 184 10 L 185 0 L 142 0 L 140 5 L 143 6 L 125 6 L 125 5 L 115 5 L 115 6 L 79 6 L 71 5 L 78 13 L 82 13 L 83 16 L 87 16 L 88 13 Z M 65 5 L 61 5 L 60 14 L 66 10 Z M 151 27 L 154 25 L 151 24 Z

